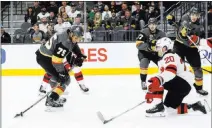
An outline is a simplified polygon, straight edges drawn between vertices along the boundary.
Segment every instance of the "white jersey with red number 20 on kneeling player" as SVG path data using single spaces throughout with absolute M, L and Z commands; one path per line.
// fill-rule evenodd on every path
M 160 69 L 159 76 L 162 83 L 172 80 L 176 75 L 190 83 L 191 73 L 186 69 L 184 61 L 176 53 L 167 53 L 158 62 Z M 189 77 L 188 77 L 189 76 Z

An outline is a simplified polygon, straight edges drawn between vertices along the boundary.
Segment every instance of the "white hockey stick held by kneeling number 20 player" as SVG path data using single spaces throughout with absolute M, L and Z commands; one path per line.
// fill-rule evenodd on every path
M 127 112 L 129 112 L 129 111 L 131 111 L 131 110 L 133 110 L 133 109 L 135 109 L 136 107 L 142 105 L 142 104 L 145 103 L 145 102 L 146 102 L 146 101 L 142 101 L 141 103 L 137 104 L 136 106 L 134 106 L 134 107 L 132 107 L 132 108 L 130 108 L 130 109 L 128 109 L 128 110 L 126 110 L 126 111 L 124 111 L 124 112 L 122 112 L 122 113 L 120 113 L 120 114 L 118 114 L 118 115 L 116 115 L 116 116 L 114 116 L 114 117 L 112 117 L 112 118 L 110 118 L 110 119 L 108 119 L 108 120 L 106 120 L 106 119 L 104 118 L 104 116 L 102 115 L 102 113 L 101 113 L 100 111 L 97 112 L 97 116 L 98 116 L 98 118 L 102 121 L 103 124 L 106 124 L 106 123 L 108 123 L 108 122 L 110 122 L 110 121 L 112 121 L 112 120 L 114 120 L 114 119 L 116 119 L 116 118 L 122 116 L 123 114 L 125 114 L 125 113 L 127 113 Z

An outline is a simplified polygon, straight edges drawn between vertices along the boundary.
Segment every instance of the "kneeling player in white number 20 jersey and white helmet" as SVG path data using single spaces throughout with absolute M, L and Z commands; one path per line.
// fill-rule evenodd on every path
M 182 59 L 172 52 L 173 42 L 167 38 L 161 38 L 156 43 L 156 52 L 161 60 L 158 62 L 161 73 L 158 76 L 152 77 L 148 82 L 148 93 L 146 94 L 147 103 L 159 100 L 159 103 L 146 110 L 148 116 L 165 116 L 164 105 L 176 109 L 178 114 L 188 113 L 188 109 L 201 111 L 206 114 L 205 106 L 200 101 L 194 104 L 182 103 L 183 99 L 189 94 L 191 86 L 189 84 L 189 71 L 186 71 L 185 63 Z M 166 89 L 167 95 L 163 101 L 163 93 Z

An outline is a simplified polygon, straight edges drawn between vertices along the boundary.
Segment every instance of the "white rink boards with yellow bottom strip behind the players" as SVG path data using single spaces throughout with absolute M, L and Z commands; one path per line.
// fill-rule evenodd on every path
M 200 55 L 202 66 L 211 70 L 211 64 L 204 57 L 212 60 L 211 49 L 201 40 Z M 44 70 L 36 62 L 35 52 L 40 44 L 2 45 L 2 76 L 38 76 Z M 80 43 L 81 51 L 88 56 L 83 64 L 85 75 L 133 75 L 139 74 L 138 50 L 135 43 Z M 203 54 L 205 56 L 203 56 Z M 150 63 L 148 74 L 158 72 L 155 64 Z

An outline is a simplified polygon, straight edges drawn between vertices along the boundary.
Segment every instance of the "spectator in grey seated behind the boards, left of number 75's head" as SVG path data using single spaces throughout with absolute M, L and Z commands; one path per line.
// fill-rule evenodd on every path
M 31 32 L 31 39 L 33 43 L 44 43 L 45 42 L 45 33 L 39 29 L 37 24 L 34 24 L 33 31 Z

